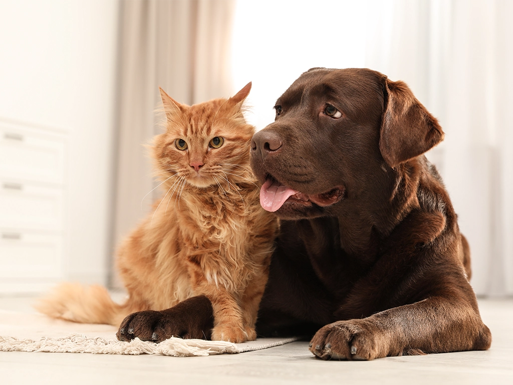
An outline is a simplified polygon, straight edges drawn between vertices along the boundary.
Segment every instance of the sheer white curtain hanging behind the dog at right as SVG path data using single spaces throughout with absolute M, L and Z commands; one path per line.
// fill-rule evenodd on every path
M 430 151 L 472 252 L 480 295 L 513 295 L 513 2 L 369 2 L 367 65 L 406 81 L 445 141 Z M 380 16 L 381 14 L 381 16 Z

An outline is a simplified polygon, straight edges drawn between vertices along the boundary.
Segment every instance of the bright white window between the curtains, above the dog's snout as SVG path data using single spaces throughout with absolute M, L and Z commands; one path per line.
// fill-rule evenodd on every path
M 237 87 L 253 82 L 248 122 L 274 121 L 274 102 L 312 67 L 364 67 L 366 12 L 353 0 L 236 2 L 231 66 Z

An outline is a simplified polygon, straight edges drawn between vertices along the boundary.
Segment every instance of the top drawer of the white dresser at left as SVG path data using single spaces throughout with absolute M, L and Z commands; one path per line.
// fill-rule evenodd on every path
M 0 176 L 63 184 L 64 164 L 63 137 L 0 122 Z

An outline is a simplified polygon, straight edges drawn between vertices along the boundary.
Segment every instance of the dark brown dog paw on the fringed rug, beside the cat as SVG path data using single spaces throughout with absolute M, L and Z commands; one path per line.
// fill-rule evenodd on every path
M 132 313 L 123 320 L 116 337 L 120 341 L 137 337 L 153 342 L 170 337 L 209 339 L 212 327 L 212 305 L 207 297 L 198 296 L 160 312 Z

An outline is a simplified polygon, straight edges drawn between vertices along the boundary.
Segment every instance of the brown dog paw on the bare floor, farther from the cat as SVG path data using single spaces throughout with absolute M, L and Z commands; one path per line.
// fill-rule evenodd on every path
M 363 319 L 337 321 L 321 328 L 310 341 L 310 352 L 322 359 L 371 360 L 385 357 L 386 341 L 376 325 Z

